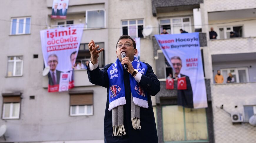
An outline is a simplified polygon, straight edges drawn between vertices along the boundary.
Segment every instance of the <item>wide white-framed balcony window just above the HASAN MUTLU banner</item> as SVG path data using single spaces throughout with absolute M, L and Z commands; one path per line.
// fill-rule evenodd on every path
M 190 17 L 162 19 L 160 20 L 160 33 L 163 32 L 163 29 L 171 34 L 179 34 L 180 29 L 192 32 Z

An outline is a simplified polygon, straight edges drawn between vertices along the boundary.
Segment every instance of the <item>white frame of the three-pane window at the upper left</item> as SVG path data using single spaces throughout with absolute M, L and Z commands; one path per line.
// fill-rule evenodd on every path
M 29 33 L 26 33 L 26 19 L 30 18 L 30 23 L 29 23 Z M 12 34 L 12 25 L 13 25 L 13 19 L 17 19 L 16 21 L 16 31 L 15 34 Z M 23 32 L 19 33 L 19 21 L 24 20 L 23 22 Z M 25 34 L 31 34 L 31 17 L 18 17 L 18 18 L 11 18 L 11 27 L 10 27 L 10 35 L 25 35 Z

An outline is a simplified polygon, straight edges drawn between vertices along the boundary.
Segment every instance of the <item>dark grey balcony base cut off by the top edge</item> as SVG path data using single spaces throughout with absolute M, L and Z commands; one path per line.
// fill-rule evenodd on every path
M 187 11 L 194 8 L 200 8 L 200 3 L 203 0 L 152 0 L 152 13 L 157 16 L 157 13 Z

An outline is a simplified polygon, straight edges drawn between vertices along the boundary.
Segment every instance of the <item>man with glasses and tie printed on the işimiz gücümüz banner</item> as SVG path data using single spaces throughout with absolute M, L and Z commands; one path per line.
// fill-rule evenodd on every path
M 48 73 L 49 85 L 59 85 L 59 78 L 61 71 L 56 70 L 58 64 L 58 57 L 56 54 L 48 56 L 48 66 L 50 66 L 50 72 Z

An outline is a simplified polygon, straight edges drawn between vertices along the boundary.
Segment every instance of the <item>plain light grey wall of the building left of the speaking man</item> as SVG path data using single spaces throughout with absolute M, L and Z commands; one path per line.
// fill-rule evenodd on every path
M 86 5 L 88 8 L 102 8 L 103 5 L 107 13 L 106 1 L 100 1 L 104 4 L 93 3 L 70 1 L 70 9 L 76 9 L 74 5 L 77 4 Z M 44 30 L 46 24 L 56 25 L 56 20 L 49 17 L 50 8 L 47 7 L 51 4 L 52 0 L 1 2 L 0 12 L 4 14 L 1 15 L 3 20 L 0 21 L 0 43 L 3 51 L 0 53 L 0 92 L 2 94 L 19 91 L 22 92 L 22 99 L 19 119 L 0 120 L 0 125 L 7 125 L 6 141 L 1 137 L 0 142 L 104 142 L 103 120 L 107 92 L 105 88 L 89 83 L 86 70 L 75 71 L 76 87 L 71 90 L 93 90 L 92 116 L 69 116 L 69 93 L 48 93 L 47 88 L 44 88 L 47 87 L 47 77 L 42 76 L 43 56 L 39 31 Z M 67 20 L 74 20 L 74 23 L 78 24 L 79 19 L 82 19 L 82 23 L 85 23 L 84 11 L 78 12 L 80 14 L 69 14 Z M 31 17 L 31 34 L 9 35 L 11 18 L 24 16 Z M 107 51 L 107 35 L 107 29 L 84 30 L 82 43 L 88 43 L 91 39 L 104 42 Z M 33 54 L 38 54 L 38 58 L 33 58 Z M 22 76 L 6 77 L 7 56 L 23 56 Z M 29 96 L 35 96 L 35 99 L 29 99 Z M 3 97 L 0 96 L 1 104 L 2 101 Z M 2 113 L 2 106 L 0 111 Z

